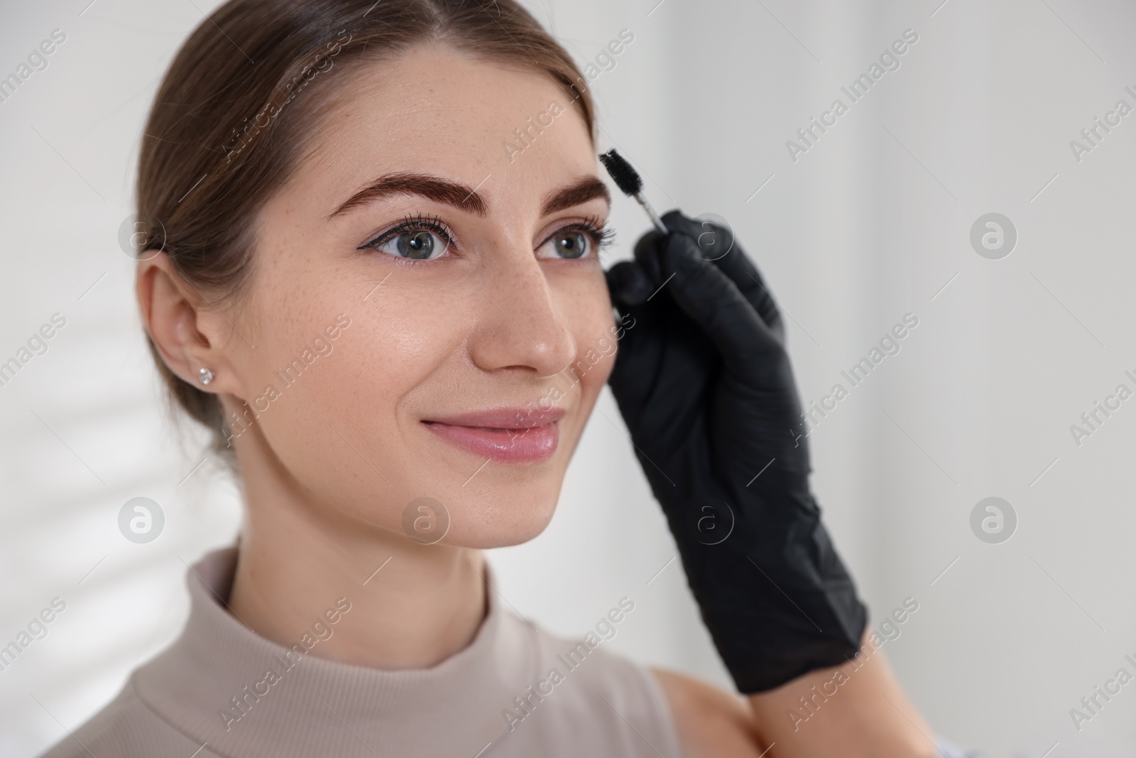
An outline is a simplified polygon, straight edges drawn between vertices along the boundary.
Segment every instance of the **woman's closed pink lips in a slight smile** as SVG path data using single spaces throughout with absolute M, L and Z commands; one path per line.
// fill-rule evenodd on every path
M 431 431 L 459 448 L 501 463 L 548 460 L 560 439 L 562 408 L 496 410 L 424 419 Z

